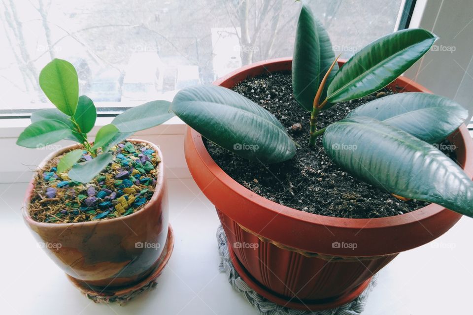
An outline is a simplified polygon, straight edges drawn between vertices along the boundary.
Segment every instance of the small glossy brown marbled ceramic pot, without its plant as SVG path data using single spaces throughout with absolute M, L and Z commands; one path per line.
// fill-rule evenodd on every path
M 154 144 L 129 141 L 144 142 L 163 158 Z M 39 168 L 76 148 L 78 145 L 52 153 Z M 101 288 L 101 294 L 107 294 L 105 288 L 113 291 L 116 287 L 131 287 L 151 273 L 155 275 L 172 252 L 172 244 L 167 244 L 171 230 L 163 161 L 158 164 L 158 170 L 155 192 L 141 210 L 123 218 L 77 223 L 43 223 L 31 218 L 28 205 L 34 189 L 33 178 L 26 192 L 23 218 L 36 240 L 74 284 L 87 289 Z

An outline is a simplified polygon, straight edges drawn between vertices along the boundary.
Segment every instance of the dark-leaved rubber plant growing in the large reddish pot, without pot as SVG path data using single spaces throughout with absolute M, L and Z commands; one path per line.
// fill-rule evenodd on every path
M 473 217 L 473 182 L 433 145 L 468 115 L 453 100 L 423 93 L 388 95 L 317 129 L 321 111 L 383 89 L 429 51 L 437 38 L 423 29 L 394 32 L 373 41 L 338 69 L 328 33 L 303 5 L 292 63 L 293 92 L 311 113 L 310 147 L 323 136 L 327 155 L 361 180 Z M 174 97 L 171 110 L 205 138 L 243 158 L 277 163 L 295 155 L 296 144 L 279 121 L 231 90 L 186 88 Z M 242 144 L 252 150 L 244 150 Z

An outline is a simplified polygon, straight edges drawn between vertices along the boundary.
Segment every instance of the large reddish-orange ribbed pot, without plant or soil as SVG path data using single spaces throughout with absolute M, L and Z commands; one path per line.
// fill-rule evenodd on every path
M 291 70 L 291 62 L 254 63 L 215 85 L 231 88 L 262 73 Z M 395 85 L 402 92 L 430 93 L 405 77 L 391 84 Z M 473 142 L 468 129 L 460 126 L 449 139 L 457 148 L 458 162 L 471 176 Z M 217 209 L 240 276 L 264 297 L 291 308 L 326 309 L 353 300 L 399 252 L 434 240 L 461 218 L 437 204 L 379 219 L 309 214 L 238 184 L 215 163 L 202 136 L 191 128 L 185 137 L 185 156 L 197 185 Z

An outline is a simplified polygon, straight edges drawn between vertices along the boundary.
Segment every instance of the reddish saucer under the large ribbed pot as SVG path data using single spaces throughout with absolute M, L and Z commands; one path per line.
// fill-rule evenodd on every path
M 360 284 L 354 290 L 339 296 L 336 299 L 326 299 L 320 301 L 301 301 L 297 298 L 287 298 L 281 297 L 274 294 L 268 288 L 258 283 L 245 269 L 241 262 L 236 257 L 235 252 L 231 246 L 228 246 L 228 251 L 230 254 L 230 259 L 235 267 L 238 275 L 248 284 L 253 290 L 259 293 L 261 296 L 270 300 L 271 302 L 287 307 L 289 309 L 295 310 L 305 310 L 305 311 L 320 311 L 320 310 L 329 310 L 334 309 L 338 306 L 345 305 L 353 300 L 355 300 L 370 284 L 371 278 L 366 280 L 364 283 Z

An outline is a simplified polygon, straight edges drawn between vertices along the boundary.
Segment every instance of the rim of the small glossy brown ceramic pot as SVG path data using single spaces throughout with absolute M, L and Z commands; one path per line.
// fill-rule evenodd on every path
M 26 196 L 24 198 L 24 201 L 23 201 L 23 205 L 22 205 L 22 208 L 21 208 L 21 213 L 23 215 L 23 219 L 25 221 L 27 221 L 29 224 L 34 224 L 36 226 L 42 226 L 42 227 L 69 227 L 69 226 L 78 226 L 78 224 L 81 224 L 81 225 L 96 225 L 96 224 L 105 224 L 107 222 L 112 222 L 112 221 L 118 221 L 118 220 L 125 220 L 125 219 L 128 219 L 128 218 L 132 218 L 136 215 L 139 215 L 139 213 L 141 213 L 142 211 L 145 211 L 146 209 L 148 209 L 148 207 L 150 206 L 150 204 L 153 204 L 154 202 L 156 202 L 159 198 L 159 196 L 162 194 L 163 192 L 163 189 L 164 189 L 164 160 L 163 160 L 163 153 L 161 152 L 160 148 L 155 145 L 154 143 L 150 142 L 150 141 L 146 141 L 146 140 L 141 140 L 141 139 L 135 139 L 135 138 L 129 138 L 129 139 L 126 139 L 126 141 L 130 141 L 130 142 L 133 142 L 133 143 L 146 143 L 148 144 L 149 146 L 151 146 L 157 153 L 158 153 L 158 156 L 161 158 L 161 162 L 159 162 L 158 164 L 158 178 L 156 180 L 156 185 L 155 185 L 155 190 L 154 190 L 154 193 L 153 195 L 151 196 L 151 199 L 148 200 L 148 202 L 144 205 L 143 208 L 141 208 L 139 211 L 136 211 L 126 217 L 119 217 L 119 218 L 113 218 L 113 219 L 107 219 L 107 220 L 100 220 L 100 221 L 83 221 L 83 222 L 69 222 L 69 223 L 47 223 L 47 222 L 38 222 L 38 221 L 35 221 L 31 216 L 30 216 L 30 212 L 29 212 L 29 205 L 30 205 L 30 199 L 31 199 L 31 195 L 33 193 L 33 190 L 34 190 L 34 183 L 35 183 L 35 178 L 36 178 L 36 174 L 37 172 L 43 168 L 52 158 L 55 158 L 63 153 L 66 153 L 72 149 L 76 149 L 76 148 L 79 148 L 80 147 L 80 144 L 79 143 L 76 143 L 76 144 L 72 144 L 72 145 L 69 145 L 67 147 L 64 147 L 62 148 L 61 150 L 58 150 L 58 151 L 54 151 L 52 153 L 50 153 L 46 158 L 44 158 L 41 163 L 39 163 L 38 167 L 36 168 L 36 170 L 34 171 L 34 174 L 33 174 L 33 178 L 31 179 L 30 183 L 28 184 L 28 188 L 27 188 L 27 192 L 26 192 Z

